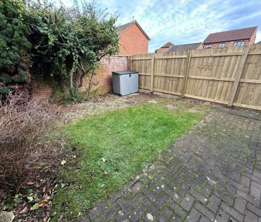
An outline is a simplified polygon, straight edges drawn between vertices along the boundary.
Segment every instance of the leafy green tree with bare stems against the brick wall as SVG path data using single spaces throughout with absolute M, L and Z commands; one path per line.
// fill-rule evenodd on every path
M 38 1 L 27 14 L 34 64 L 43 76 L 68 79 L 73 97 L 78 96 L 83 77 L 93 77 L 97 61 L 118 51 L 117 16 L 97 10 L 93 2 L 78 5 L 75 1 L 68 9 Z

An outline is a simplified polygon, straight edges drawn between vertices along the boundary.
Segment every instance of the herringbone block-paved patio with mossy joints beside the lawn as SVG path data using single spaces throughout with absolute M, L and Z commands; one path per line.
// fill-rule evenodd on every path
M 211 111 L 81 221 L 260 222 L 261 121 L 242 116 Z

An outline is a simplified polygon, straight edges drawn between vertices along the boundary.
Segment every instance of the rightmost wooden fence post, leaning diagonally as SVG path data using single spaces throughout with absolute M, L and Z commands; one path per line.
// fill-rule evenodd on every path
M 235 71 L 235 81 L 234 81 L 234 84 L 231 89 L 230 98 L 229 98 L 228 104 L 227 104 L 228 106 L 232 106 L 232 104 L 234 102 L 235 94 L 237 93 L 237 87 L 238 87 L 238 84 L 241 79 L 241 75 L 242 75 L 242 72 L 243 72 L 243 69 L 245 66 L 245 61 L 247 60 L 247 54 L 248 54 L 249 49 L 250 49 L 250 46 L 244 46 L 244 48 L 243 48 L 242 56 L 240 59 L 240 64 L 238 64 L 237 70 Z

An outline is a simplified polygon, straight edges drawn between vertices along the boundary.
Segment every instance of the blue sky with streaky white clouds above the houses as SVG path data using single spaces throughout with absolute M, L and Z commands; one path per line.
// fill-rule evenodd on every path
M 70 5 L 72 0 L 60 0 Z M 188 44 L 203 41 L 217 31 L 259 26 L 261 41 L 261 0 L 96 0 L 98 8 L 118 13 L 118 25 L 134 16 L 150 36 L 149 52 L 168 41 Z

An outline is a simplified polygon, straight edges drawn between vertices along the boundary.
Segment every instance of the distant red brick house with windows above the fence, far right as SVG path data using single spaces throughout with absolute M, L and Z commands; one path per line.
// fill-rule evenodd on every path
M 221 31 L 208 35 L 200 49 L 225 48 L 230 46 L 253 45 L 257 35 L 257 26 Z

